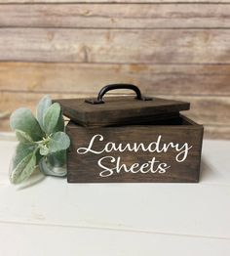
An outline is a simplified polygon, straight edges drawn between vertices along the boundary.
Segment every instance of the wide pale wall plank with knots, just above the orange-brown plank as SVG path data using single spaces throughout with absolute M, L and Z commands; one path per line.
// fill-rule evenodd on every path
M 229 40 L 228 29 L 1 28 L 0 60 L 230 64 Z

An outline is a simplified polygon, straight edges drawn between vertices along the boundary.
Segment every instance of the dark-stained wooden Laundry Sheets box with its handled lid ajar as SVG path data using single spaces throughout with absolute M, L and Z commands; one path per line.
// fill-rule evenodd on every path
M 136 97 L 105 97 L 114 89 Z M 103 87 L 97 99 L 57 100 L 66 132 L 69 183 L 199 181 L 203 126 L 181 115 L 189 103 L 143 97 L 134 85 Z

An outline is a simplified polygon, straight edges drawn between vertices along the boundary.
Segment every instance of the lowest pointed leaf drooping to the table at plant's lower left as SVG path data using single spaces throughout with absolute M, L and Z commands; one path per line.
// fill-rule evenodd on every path
M 36 168 L 36 156 L 34 152 L 27 154 L 19 164 L 10 172 L 10 181 L 19 184 L 29 178 Z

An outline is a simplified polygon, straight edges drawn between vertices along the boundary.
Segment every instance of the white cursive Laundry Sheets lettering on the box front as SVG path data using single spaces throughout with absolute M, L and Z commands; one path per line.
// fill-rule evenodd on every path
M 79 154 L 86 154 L 88 152 L 100 154 L 100 153 L 111 153 L 111 152 L 124 152 L 124 151 L 148 151 L 152 153 L 166 153 L 169 150 L 175 151 L 175 160 L 177 162 L 183 162 L 187 156 L 189 149 L 193 146 L 189 146 L 188 143 L 178 144 L 178 143 L 165 143 L 162 136 L 159 135 L 156 141 L 150 142 L 148 145 L 143 143 L 114 143 L 114 142 L 104 142 L 104 137 L 101 134 L 96 134 L 92 137 L 89 145 L 87 147 L 82 147 L 77 149 Z M 116 154 L 117 155 L 117 154 Z M 155 155 L 157 156 L 157 154 Z M 133 163 L 131 166 L 127 166 L 126 163 L 122 163 L 121 156 L 103 156 L 97 161 L 98 166 L 102 169 L 99 173 L 100 177 L 108 177 L 114 174 L 119 174 L 122 172 L 128 173 L 159 173 L 164 174 L 171 167 L 165 162 L 161 162 L 152 157 L 150 161 L 145 163 Z M 111 167 L 112 166 L 112 167 Z

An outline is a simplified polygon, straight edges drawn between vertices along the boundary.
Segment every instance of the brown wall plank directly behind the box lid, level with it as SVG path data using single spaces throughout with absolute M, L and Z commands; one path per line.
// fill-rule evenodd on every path
M 17 107 L 29 107 L 33 111 L 36 104 L 44 96 L 44 94 L 33 93 L 0 93 L 0 111 L 13 111 Z M 95 94 L 51 94 L 53 99 L 69 99 L 69 98 L 89 98 Z M 196 122 L 205 125 L 230 125 L 230 98 L 229 97 L 199 97 L 199 96 L 161 96 L 159 98 L 168 98 L 178 101 L 191 103 L 191 109 L 185 111 L 184 114 Z

